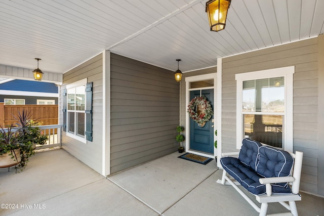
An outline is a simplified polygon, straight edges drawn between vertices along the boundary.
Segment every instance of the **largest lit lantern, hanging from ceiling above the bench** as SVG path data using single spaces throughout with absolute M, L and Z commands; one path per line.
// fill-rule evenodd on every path
M 211 31 L 225 29 L 227 11 L 230 4 L 231 0 L 210 0 L 206 3 L 206 12 Z

